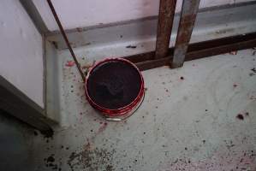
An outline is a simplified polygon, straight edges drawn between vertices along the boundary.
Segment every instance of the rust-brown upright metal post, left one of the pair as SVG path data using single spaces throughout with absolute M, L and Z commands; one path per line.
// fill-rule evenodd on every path
M 168 56 L 170 34 L 175 11 L 176 0 L 160 0 L 155 59 Z

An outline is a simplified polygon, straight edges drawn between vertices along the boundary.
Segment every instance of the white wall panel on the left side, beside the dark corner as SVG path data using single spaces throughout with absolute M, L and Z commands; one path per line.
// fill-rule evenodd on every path
M 42 38 L 19 0 L 0 1 L 0 51 L 0 74 L 44 107 Z

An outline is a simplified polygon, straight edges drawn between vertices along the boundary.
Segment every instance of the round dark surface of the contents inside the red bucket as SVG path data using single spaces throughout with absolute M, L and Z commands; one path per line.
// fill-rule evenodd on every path
M 120 109 L 138 97 L 141 78 L 128 62 L 113 60 L 93 68 L 86 86 L 94 103 L 105 109 Z

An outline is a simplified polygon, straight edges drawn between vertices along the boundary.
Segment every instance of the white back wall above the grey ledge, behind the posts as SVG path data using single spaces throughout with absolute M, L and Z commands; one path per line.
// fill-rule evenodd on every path
M 241 3 L 250 0 L 201 0 L 200 8 Z M 57 30 L 57 24 L 44 0 L 33 0 L 47 27 Z M 100 23 L 127 21 L 158 15 L 159 0 L 52 0 L 65 29 L 88 27 Z M 180 11 L 182 0 L 177 0 Z

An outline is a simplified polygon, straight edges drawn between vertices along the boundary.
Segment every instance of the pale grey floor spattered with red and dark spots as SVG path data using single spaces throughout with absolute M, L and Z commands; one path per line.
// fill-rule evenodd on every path
M 120 122 L 91 108 L 63 59 L 60 127 L 34 137 L 30 170 L 256 170 L 253 50 L 143 72 L 145 100 Z

